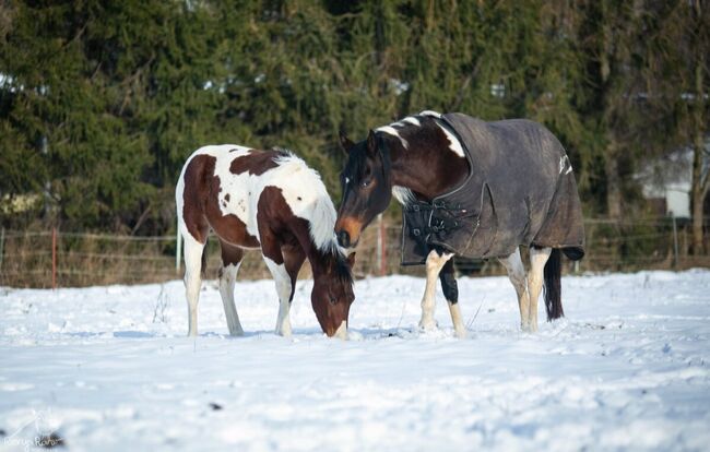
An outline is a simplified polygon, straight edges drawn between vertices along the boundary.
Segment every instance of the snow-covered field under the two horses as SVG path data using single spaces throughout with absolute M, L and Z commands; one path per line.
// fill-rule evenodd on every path
M 197 340 L 178 281 L 0 288 L 0 450 L 710 450 L 709 271 L 566 276 L 537 334 L 507 278 L 462 278 L 466 340 L 440 293 L 417 331 L 407 276 L 358 281 L 351 340 L 329 340 L 310 286 L 291 340 L 271 281 L 237 284 L 238 338 L 214 282 Z

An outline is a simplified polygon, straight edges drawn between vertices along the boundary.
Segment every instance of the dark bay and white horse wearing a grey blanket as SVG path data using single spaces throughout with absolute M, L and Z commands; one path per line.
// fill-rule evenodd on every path
M 581 259 L 584 229 L 569 158 L 542 124 L 423 111 L 370 130 L 357 144 L 343 133 L 340 142 L 347 163 L 338 240 L 355 247 L 392 197 L 402 203 L 402 264 L 426 264 L 422 329 L 436 326 L 439 276 L 455 334 L 465 336 L 453 255 L 500 260 L 518 296 L 523 331 L 537 330 L 543 283 L 547 319 L 564 316 L 560 251 Z M 529 272 L 520 246 L 530 249 Z

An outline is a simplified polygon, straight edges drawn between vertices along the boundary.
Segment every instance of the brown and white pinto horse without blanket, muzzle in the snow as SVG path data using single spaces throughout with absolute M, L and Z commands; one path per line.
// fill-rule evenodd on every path
M 329 336 L 346 338 L 347 314 L 354 300 L 352 260 L 335 241 L 335 209 L 326 187 L 304 160 L 285 151 L 232 144 L 204 146 L 185 164 L 175 199 L 185 237 L 190 336 L 198 333 L 203 251 L 212 229 L 222 248 L 220 295 L 229 334 L 244 334 L 234 304 L 244 251 L 261 249 L 276 283 L 276 333 L 292 333 L 288 311 L 298 271 L 308 259 L 318 322 Z

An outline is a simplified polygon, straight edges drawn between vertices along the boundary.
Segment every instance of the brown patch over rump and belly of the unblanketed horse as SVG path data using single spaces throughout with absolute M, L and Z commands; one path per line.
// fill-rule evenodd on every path
M 230 245 L 259 248 L 259 240 L 247 231 L 247 225 L 239 217 L 222 214 L 218 205 L 222 188 L 220 178 L 214 175 L 215 163 L 216 158 L 211 155 L 196 155 L 185 170 L 182 217 L 188 231 L 204 243 L 212 227 Z

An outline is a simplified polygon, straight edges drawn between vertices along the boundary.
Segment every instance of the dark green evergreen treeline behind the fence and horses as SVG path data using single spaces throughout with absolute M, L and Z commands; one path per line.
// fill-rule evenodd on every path
M 642 213 L 631 176 L 693 148 L 699 249 L 709 52 L 700 0 L 4 0 L 1 223 L 169 233 L 208 143 L 293 148 L 338 199 L 339 129 L 435 109 L 544 122 L 588 215 Z

